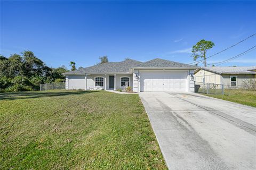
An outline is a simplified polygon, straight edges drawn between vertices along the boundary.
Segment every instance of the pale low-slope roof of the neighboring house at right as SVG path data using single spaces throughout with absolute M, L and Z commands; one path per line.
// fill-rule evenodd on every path
M 219 74 L 256 74 L 256 66 L 243 66 L 243 67 L 202 67 L 203 70 L 211 71 Z

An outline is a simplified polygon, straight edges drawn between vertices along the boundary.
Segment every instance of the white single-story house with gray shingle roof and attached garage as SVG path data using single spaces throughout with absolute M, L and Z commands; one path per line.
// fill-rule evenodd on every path
M 98 64 L 63 73 L 66 89 L 123 89 L 194 92 L 194 65 L 156 58 L 147 62 L 125 60 Z

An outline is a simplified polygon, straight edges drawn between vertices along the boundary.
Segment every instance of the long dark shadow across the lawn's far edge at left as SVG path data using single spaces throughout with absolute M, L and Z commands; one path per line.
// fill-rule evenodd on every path
M 99 91 L 8 92 L 8 93 L 0 94 L 0 100 L 17 100 L 17 99 L 31 99 L 31 98 L 41 98 L 41 97 L 82 95 L 82 94 L 90 94 L 92 92 L 99 92 Z

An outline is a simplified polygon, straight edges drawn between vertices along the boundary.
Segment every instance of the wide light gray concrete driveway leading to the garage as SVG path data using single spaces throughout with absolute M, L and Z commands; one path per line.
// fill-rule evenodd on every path
M 169 169 L 256 169 L 256 108 L 191 93 L 139 96 Z

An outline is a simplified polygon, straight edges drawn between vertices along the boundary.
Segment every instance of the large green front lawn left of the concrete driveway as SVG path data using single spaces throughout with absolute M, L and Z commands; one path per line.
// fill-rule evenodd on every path
M 166 169 L 138 95 L 0 94 L 0 169 Z

